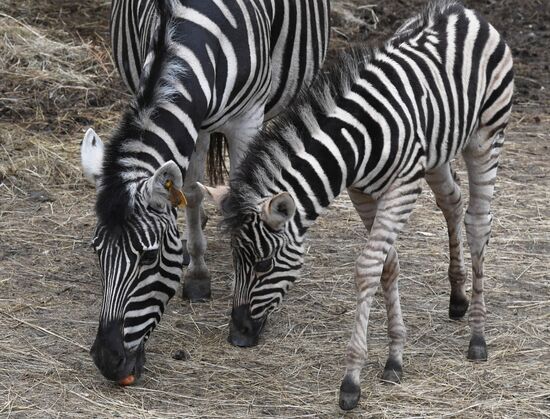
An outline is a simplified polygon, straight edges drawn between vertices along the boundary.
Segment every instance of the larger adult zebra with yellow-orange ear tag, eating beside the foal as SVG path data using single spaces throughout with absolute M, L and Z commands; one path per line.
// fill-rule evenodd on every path
M 187 203 L 184 291 L 210 296 L 195 185 L 208 133 L 226 135 L 235 167 L 264 118 L 319 70 L 328 24 L 328 0 L 113 1 L 115 60 L 136 96 L 105 152 L 93 131 L 82 146 L 98 189 L 93 247 L 104 292 L 91 354 L 105 377 L 141 374 L 145 341 L 179 285 L 175 206 Z

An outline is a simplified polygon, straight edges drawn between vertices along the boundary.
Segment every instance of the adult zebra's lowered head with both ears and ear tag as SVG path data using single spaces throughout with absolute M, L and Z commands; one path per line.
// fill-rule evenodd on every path
M 97 182 L 98 223 L 92 246 L 103 285 L 90 353 L 106 378 L 121 381 L 140 376 L 144 344 L 179 285 L 183 249 L 175 206 L 184 204 L 185 197 L 180 169 L 172 161 L 149 177 L 117 186 L 97 164 L 103 159 L 102 147 L 89 131 L 82 164 L 86 178 Z

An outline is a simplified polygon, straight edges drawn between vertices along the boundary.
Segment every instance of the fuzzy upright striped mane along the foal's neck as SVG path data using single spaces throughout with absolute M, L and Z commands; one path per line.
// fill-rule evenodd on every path
M 280 191 L 274 181 L 282 170 L 291 145 L 285 132 L 295 130 L 298 141 L 307 141 L 307 127 L 314 116 L 326 115 L 336 107 L 335 99 L 346 94 L 372 51 L 351 48 L 340 52 L 311 86 L 303 88 L 286 111 L 269 121 L 255 137 L 231 181 L 229 196 L 223 202 L 222 228 L 238 230 L 258 204 Z

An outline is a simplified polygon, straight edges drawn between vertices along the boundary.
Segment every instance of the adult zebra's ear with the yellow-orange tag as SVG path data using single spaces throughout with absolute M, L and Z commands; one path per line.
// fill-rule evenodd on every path
M 168 204 L 185 207 L 187 199 L 182 192 L 181 170 L 172 160 L 164 163 L 147 181 L 149 205 L 162 210 Z

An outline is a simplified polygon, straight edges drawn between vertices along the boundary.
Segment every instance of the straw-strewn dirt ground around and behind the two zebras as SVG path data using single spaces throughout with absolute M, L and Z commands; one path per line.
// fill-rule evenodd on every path
M 423 3 L 333 1 L 331 57 L 380 42 Z M 345 416 L 550 417 L 550 2 L 466 4 L 505 34 L 517 74 L 485 265 L 490 358 L 468 362 L 467 322 L 448 319 L 446 231 L 425 190 L 398 243 L 404 381 L 379 380 L 387 337 L 378 298 L 363 396 Z M 366 240 L 347 196 L 311 230 L 303 279 L 259 346 L 226 341 L 231 258 L 210 209 L 212 301 L 170 303 L 138 385 L 120 388 L 93 365 L 101 285 L 89 247 L 94 190 L 78 150 L 88 126 L 108 137 L 128 99 L 109 55 L 109 6 L 0 3 L 0 416 L 342 416 L 353 263 Z M 180 349 L 189 359 L 172 358 Z

